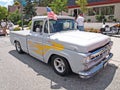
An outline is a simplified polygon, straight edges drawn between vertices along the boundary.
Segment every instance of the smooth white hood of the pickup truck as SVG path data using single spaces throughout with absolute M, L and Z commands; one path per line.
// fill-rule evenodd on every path
M 110 41 L 106 35 L 78 30 L 59 32 L 51 35 L 50 39 L 59 42 L 65 49 L 82 53 L 97 49 Z

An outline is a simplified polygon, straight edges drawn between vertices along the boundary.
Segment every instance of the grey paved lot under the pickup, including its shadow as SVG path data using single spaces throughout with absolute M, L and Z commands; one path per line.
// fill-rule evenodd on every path
M 0 90 L 120 90 L 120 36 L 111 37 L 114 54 L 110 64 L 93 78 L 56 75 L 50 66 L 18 54 L 9 37 L 0 37 Z

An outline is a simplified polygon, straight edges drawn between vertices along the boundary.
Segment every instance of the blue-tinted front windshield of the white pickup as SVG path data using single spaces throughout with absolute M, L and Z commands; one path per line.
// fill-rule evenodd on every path
M 73 19 L 57 19 L 49 20 L 50 32 L 60 32 L 60 31 L 69 31 L 77 30 L 77 25 Z

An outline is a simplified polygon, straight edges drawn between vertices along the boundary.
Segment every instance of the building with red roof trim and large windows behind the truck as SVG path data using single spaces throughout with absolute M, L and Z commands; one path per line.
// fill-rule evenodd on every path
M 96 15 L 105 15 L 107 20 L 113 17 L 120 21 L 120 0 L 87 0 L 88 13 L 85 16 L 86 20 L 96 21 Z M 68 3 L 69 15 L 79 13 L 80 9 L 75 4 L 75 0 L 69 0 Z

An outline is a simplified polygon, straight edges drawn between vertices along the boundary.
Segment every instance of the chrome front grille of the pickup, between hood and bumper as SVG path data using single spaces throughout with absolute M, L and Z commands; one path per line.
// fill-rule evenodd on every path
M 85 66 L 87 67 L 85 70 L 88 70 L 96 66 L 102 60 L 104 60 L 106 56 L 109 55 L 111 46 L 112 46 L 112 42 L 110 41 L 109 43 L 102 46 L 101 48 L 98 48 L 95 51 L 91 52 L 90 62 L 85 64 Z

